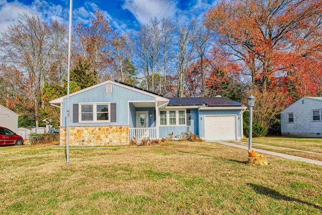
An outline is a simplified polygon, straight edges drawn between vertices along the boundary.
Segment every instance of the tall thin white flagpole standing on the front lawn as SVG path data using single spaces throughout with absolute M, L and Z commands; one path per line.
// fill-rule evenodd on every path
M 69 1 L 69 31 L 68 31 L 68 66 L 67 66 L 67 124 L 66 124 L 66 164 L 69 165 L 69 70 L 70 70 L 70 49 L 71 49 L 71 20 L 72 0 Z

